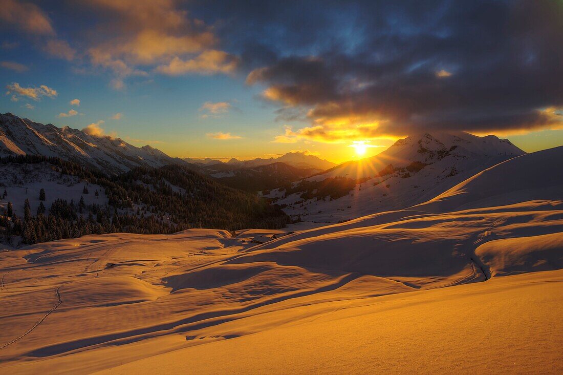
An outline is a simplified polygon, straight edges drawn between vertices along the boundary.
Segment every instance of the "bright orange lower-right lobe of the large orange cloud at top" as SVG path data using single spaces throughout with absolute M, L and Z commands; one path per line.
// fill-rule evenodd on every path
M 187 73 L 215 74 L 232 73 L 238 67 L 239 59 L 224 51 L 208 50 L 193 59 L 173 58 L 168 64 L 159 65 L 157 72 L 169 76 Z

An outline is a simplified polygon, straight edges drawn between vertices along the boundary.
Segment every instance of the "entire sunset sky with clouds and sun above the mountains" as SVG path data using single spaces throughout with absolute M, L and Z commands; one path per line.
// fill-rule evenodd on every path
M 561 0 L 0 8 L 0 112 L 171 156 L 342 162 L 438 131 L 563 144 Z

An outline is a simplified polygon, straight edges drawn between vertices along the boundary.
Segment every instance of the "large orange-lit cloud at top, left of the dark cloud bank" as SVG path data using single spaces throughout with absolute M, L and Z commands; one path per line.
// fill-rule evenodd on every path
M 86 55 L 94 67 L 110 70 L 110 86 L 122 90 L 128 77 L 158 72 L 231 73 L 238 59 L 214 48 L 213 28 L 189 16 L 172 0 L 88 0 L 103 20 Z M 111 32 L 107 32 L 111 30 Z

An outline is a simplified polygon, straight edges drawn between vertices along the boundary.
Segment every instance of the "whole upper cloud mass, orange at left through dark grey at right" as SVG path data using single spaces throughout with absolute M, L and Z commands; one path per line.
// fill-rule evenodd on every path
M 43 26 L 12 20 L 2 30 L 43 36 L 43 50 L 113 72 L 116 88 L 158 73 L 246 77 L 278 120 L 306 124 L 286 138 L 561 127 L 561 1 L 25 4 Z

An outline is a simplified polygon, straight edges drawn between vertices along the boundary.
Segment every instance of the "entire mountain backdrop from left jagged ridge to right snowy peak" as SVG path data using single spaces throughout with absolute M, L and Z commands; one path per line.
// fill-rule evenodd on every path
M 150 145 L 95 136 L 0 114 L 0 155 L 54 156 L 117 175 L 136 167 L 182 165 L 230 187 L 263 191 L 294 219 L 339 222 L 419 204 L 525 152 L 510 140 L 464 132 L 399 139 L 377 156 L 339 165 L 307 152 L 227 162 L 166 155 Z

